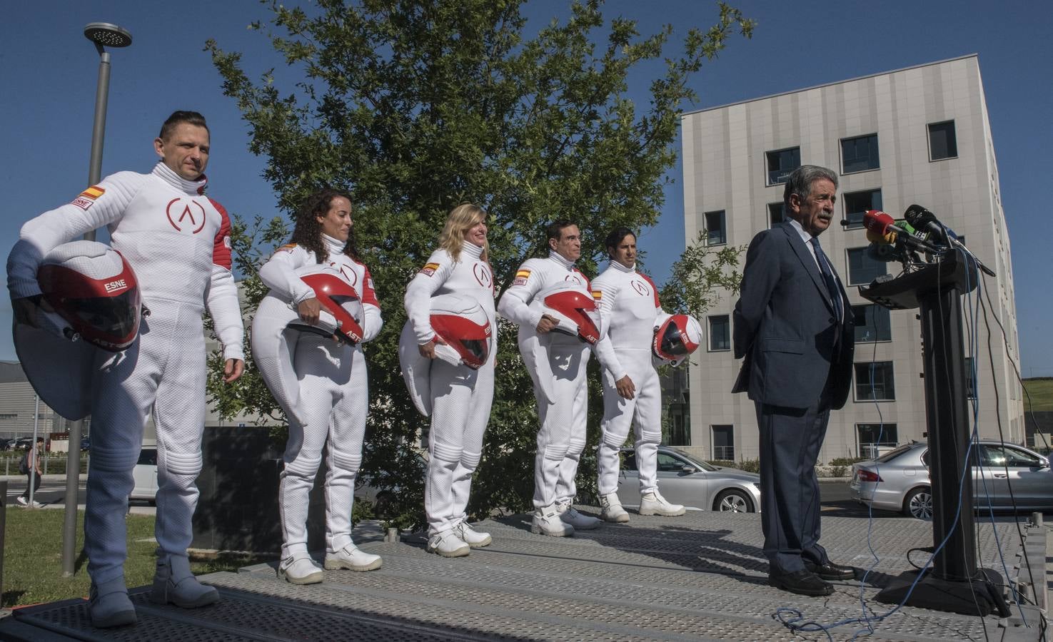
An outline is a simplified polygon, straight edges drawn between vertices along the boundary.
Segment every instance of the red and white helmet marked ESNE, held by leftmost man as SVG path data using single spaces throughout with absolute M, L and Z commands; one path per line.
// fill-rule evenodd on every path
M 95 241 L 59 245 L 37 270 L 44 301 L 69 324 L 66 338 L 118 353 L 139 334 L 139 281 L 121 253 Z M 64 328 L 63 328 L 64 330 Z

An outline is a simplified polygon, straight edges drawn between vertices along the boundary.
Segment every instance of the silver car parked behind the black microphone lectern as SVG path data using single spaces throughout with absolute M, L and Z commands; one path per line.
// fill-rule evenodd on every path
M 973 505 L 980 510 L 1053 509 L 1053 469 L 1028 448 L 980 441 L 973 444 Z M 1012 488 L 1012 496 L 1010 489 Z M 852 498 L 874 508 L 932 518 L 929 444 L 912 442 L 877 459 L 852 464 Z

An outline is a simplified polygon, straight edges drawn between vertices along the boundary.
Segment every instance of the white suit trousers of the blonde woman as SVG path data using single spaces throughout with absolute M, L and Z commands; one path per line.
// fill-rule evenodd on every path
M 494 401 L 494 356 L 477 370 L 432 360 L 432 428 L 428 436 L 424 514 L 428 534 L 452 529 L 466 517 L 472 475 Z

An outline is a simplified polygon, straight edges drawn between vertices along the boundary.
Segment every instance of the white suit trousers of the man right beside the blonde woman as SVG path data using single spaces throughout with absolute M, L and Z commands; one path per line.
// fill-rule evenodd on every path
M 534 381 L 537 416 L 537 456 L 534 459 L 534 507 L 574 501 L 578 461 L 585 447 L 589 388 L 585 366 L 592 354 L 573 337 L 549 333 L 548 359 L 552 368 L 552 403 L 541 392 L 533 350 L 520 350 Z M 543 358 L 543 357 L 542 357 Z

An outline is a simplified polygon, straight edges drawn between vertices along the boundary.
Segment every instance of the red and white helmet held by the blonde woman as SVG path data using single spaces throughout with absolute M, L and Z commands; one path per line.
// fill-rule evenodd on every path
M 446 344 L 436 342 L 435 356 L 454 365 L 478 369 L 490 357 L 493 328 L 482 307 L 456 295 L 432 297 L 432 328 Z

